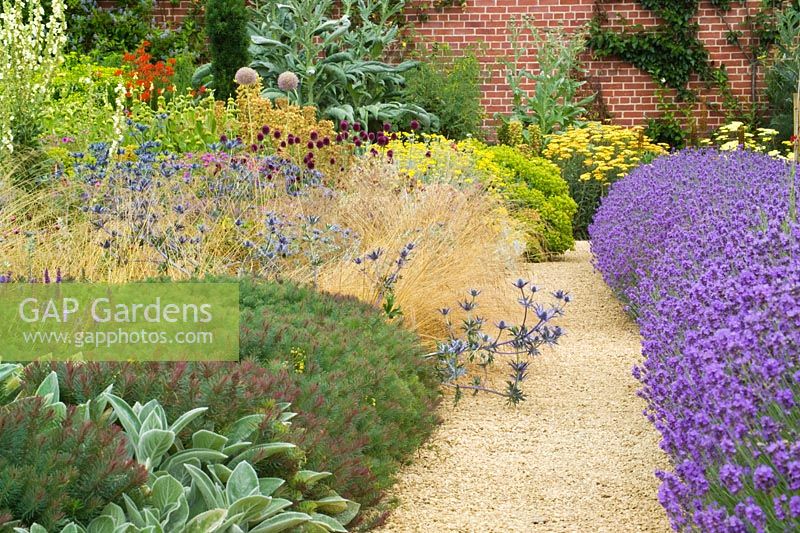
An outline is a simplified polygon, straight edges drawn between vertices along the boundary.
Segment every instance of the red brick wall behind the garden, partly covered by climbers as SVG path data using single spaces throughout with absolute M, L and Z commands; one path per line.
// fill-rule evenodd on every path
M 157 2 L 156 18 L 160 21 L 174 21 L 184 16 L 190 6 L 198 0 Z M 760 0 L 747 0 L 743 4 L 733 3 L 725 19 L 737 28 L 747 13 L 747 9 L 757 8 Z M 101 2 L 102 3 L 102 2 Z M 631 24 L 652 26 L 658 21 L 651 11 L 641 7 L 636 0 L 467 0 L 466 5 L 442 10 L 424 10 L 427 19 L 418 20 L 419 6 L 430 0 L 408 0 L 408 20 L 413 24 L 414 34 L 423 40 L 446 42 L 456 50 L 481 45 L 479 54 L 485 71 L 483 104 L 487 117 L 495 113 L 507 113 L 511 109 L 511 95 L 505 80 L 505 69 L 501 61 L 511 57 L 511 44 L 508 40 L 507 24 L 511 17 L 529 15 L 538 27 L 564 25 L 577 28 L 586 24 L 595 14 L 603 10 L 610 27 L 619 27 L 620 20 Z M 728 31 L 726 22 L 710 5 L 701 1 L 697 22 L 700 25 L 700 39 L 705 43 L 712 62 L 724 64 L 727 68 L 733 95 L 743 103 L 751 99 L 750 66 L 744 53 L 736 46 L 726 42 Z M 524 66 L 535 69 L 530 55 L 523 57 Z M 643 124 L 648 118 L 657 116 L 659 97 L 658 85 L 649 75 L 619 60 L 597 60 L 586 54 L 588 67 L 587 87 L 598 93 L 598 103 L 602 110 L 615 123 L 632 126 Z M 757 85 L 761 87 L 759 73 Z M 721 96 L 703 87 L 694 80 L 690 87 L 701 95 L 701 102 L 695 107 L 698 126 L 704 129 L 722 123 L 724 116 L 720 111 Z M 710 104 L 710 105 L 709 105 Z M 491 118 L 488 120 L 491 122 Z

